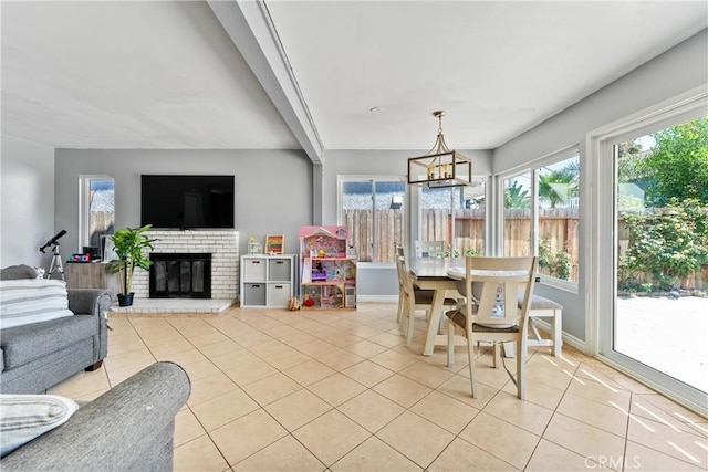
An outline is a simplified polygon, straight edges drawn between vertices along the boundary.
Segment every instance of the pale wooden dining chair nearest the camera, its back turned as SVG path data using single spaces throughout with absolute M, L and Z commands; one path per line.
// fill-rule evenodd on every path
M 445 314 L 448 317 L 447 355 L 448 366 L 452 366 L 455 334 L 462 334 L 467 338 L 473 398 L 477 398 L 473 346 L 479 342 L 493 344 L 494 367 L 499 367 L 500 344 L 516 343 L 516 378 L 506 364 L 504 369 L 517 386 L 517 396 L 520 399 L 525 397 L 524 358 L 537 265 L 538 258 L 465 258 L 465 281 L 458 284 L 465 303 Z M 520 293 L 523 293 L 521 304 L 518 303 Z M 503 357 L 501 360 L 503 364 Z

